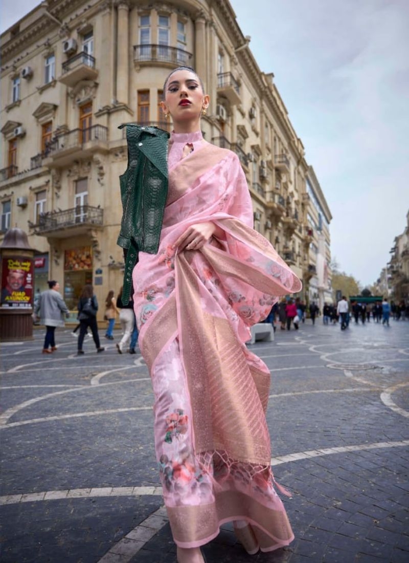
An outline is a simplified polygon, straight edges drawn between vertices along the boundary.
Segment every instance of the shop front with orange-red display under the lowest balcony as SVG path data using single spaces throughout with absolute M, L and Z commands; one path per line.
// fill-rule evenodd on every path
M 77 311 L 84 285 L 92 284 L 90 246 L 71 248 L 64 253 L 64 301 L 70 311 Z

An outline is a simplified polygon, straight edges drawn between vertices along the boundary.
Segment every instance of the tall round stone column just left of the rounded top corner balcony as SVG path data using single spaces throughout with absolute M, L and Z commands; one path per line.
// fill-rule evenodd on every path
M 118 51 L 116 60 L 116 98 L 128 105 L 129 96 L 129 5 L 118 2 Z

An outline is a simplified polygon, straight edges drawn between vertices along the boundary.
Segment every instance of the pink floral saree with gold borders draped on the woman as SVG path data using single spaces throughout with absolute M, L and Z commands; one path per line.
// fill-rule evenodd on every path
M 213 221 L 223 238 L 174 242 Z M 155 394 L 155 450 L 173 538 L 201 546 L 223 522 L 253 525 L 262 551 L 293 540 L 271 472 L 270 374 L 245 346 L 249 327 L 301 283 L 253 230 L 239 159 L 208 143 L 169 171 L 158 254 L 133 272 L 141 352 Z

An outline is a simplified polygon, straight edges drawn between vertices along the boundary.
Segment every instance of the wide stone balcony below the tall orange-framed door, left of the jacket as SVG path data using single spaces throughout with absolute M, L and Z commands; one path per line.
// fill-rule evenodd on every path
M 64 166 L 78 158 L 86 158 L 97 152 L 108 151 L 108 129 L 93 125 L 86 129 L 73 129 L 54 137 L 48 146 L 43 166 Z

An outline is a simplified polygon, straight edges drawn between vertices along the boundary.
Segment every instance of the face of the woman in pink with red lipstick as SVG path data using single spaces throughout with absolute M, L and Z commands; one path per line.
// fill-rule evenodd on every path
M 209 96 L 205 96 L 199 79 L 190 70 L 178 70 L 167 82 L 165 101 L 161 102 L 165 113 L 172 115 L 173 121 L 185 121 L 199 118 L 201 110 L 209 105 Z

